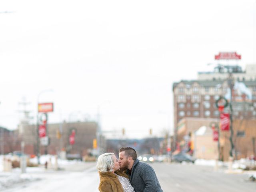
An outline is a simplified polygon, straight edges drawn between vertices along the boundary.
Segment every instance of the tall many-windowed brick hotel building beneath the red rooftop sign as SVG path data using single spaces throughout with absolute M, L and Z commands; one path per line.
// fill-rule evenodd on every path
M 215 102 L 220 96 L 230 94 L 230 73 L 233 84 L 237 82 L 246 89 L 246 92 L 234 88 L 232 90 L 234 119 L 255 118 L 256 65 L 247 65 L 246 71 L 242 71 L 239 66 L 218 66 L 214 72 L 198 72 L 198 80 L 174 82 L 174 128 L 185 117 L 219 118 Z

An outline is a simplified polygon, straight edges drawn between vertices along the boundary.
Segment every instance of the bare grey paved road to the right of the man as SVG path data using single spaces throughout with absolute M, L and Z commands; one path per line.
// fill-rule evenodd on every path
M 226 174 L 210 166 L 151 164 L 164 192 L 256 192 L 246 174 Z

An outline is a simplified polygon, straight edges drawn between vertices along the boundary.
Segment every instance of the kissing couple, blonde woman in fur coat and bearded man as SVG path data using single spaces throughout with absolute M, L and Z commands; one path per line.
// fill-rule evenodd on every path
M 100 192 L 163 192 L 154 169 L 137 159 L 134 148 L 120 148 L 119 159 L 114 153 L 104 153 L 96 167 Z

